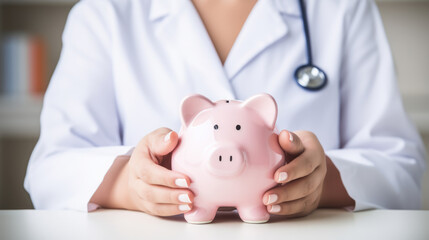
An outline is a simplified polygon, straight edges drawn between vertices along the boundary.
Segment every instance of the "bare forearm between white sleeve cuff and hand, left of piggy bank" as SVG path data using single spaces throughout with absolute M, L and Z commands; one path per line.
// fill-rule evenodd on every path
M 92 196 L 90 202 L 104 208 L 134 209 L 128 192 L 129 156 L 119 156 Z

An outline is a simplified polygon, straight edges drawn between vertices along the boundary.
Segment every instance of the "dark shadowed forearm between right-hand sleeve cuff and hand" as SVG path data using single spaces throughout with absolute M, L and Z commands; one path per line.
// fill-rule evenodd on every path
M 354 207 L 355 201 L 347 193 L 340 172 L 328 156 L 326 157 L 326 167 L 327 172 L 323 182 L 319 208 Z

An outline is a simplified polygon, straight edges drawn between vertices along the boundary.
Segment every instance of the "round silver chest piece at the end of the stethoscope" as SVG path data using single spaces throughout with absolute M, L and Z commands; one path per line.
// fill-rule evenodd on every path
M 295 80 L 302 88 L 315 91 L 326 86 L 328 77 L 322 69 L 306 64 L 296 69 Z

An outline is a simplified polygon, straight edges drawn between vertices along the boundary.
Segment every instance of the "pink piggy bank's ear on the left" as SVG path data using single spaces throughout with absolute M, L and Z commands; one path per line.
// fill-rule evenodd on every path
M 182 123 L 189 126 L 201 111 L 212 108 L 214 103 L 202 95 L 192 95 L 182 101 Z

